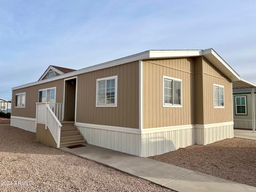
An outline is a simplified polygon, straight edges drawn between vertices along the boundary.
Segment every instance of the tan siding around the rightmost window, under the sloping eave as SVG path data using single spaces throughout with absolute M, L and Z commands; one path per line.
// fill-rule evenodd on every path
M 224 86 L 225 108 L 214 108 L 213 84 Z M 223 123 L 233 121 L 232 114 L 232 83 L 221 74 L 211 62 L 203 57 L 203 105 L 204 124 Z

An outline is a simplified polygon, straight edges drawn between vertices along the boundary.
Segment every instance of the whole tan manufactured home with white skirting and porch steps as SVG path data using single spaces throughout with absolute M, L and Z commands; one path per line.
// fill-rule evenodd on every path
M 11 125 L 52 147 L 137 156 L 233 138 L 233 88 L 253 87 L 213 49 L 150 50 L 13 87 Z

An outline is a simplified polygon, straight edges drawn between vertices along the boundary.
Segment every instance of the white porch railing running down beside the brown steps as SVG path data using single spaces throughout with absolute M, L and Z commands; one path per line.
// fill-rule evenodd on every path
M 45 124 L 45 129 L 49 129 L 57 143 L 57 148 L 60 147 L 60 129 L 62 127 L 59 119 L 53 113 L 50 103 L 36 103 L 36 123 Z

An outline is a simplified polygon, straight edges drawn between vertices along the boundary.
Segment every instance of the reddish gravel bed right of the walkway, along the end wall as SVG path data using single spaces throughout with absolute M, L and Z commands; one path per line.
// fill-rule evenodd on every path
M 225 139 L 149 158 L 256 187 L 256 140 Z

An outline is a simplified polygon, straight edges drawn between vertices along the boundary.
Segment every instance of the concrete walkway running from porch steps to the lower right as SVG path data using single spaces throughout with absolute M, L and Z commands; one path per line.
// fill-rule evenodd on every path
M 256 191 L 255 187 L 241 183 L 212 177 L 178 166 L 154 161 L 153 159 L 128 155 L 88 144 L 85 147 L 74 149 L 66 147 L 60 149 L 175 191 Z

